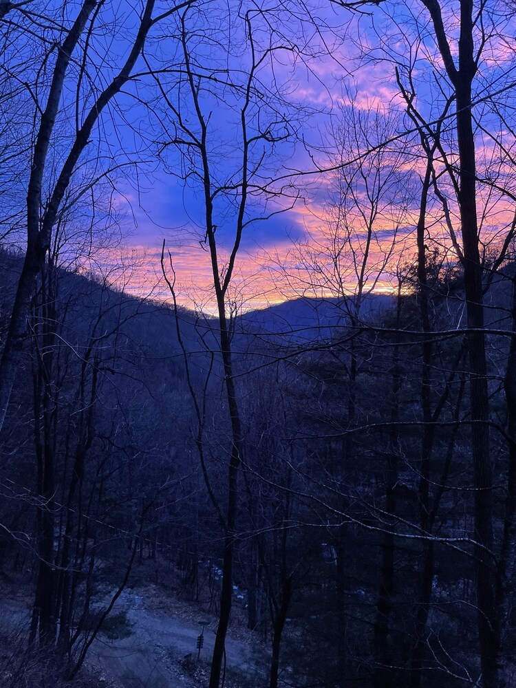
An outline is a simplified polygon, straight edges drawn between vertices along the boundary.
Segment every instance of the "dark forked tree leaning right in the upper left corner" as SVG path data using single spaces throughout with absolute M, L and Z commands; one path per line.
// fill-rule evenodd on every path
M 29 16 L 35 26 L 41 23 L 45 26 L 45 50 L 38 67 L 43 69 L 45 78 L 39 78 L 36 71 L 30 75 L 36 79 L 35 82 L 27 85 L 31 98 L 34 98 L 35 125 L 27 184 L 25 260 L 0 362 L 0 427 L 6 416 L 25 341 L 36 277 L 43 268 L 72 177 L 83 161 L 83 153 L 98 136 L 96 127 L 103 111 L 131 79 L 149 31 L 190 1 L 167 8 L 161 14 L 154 14 L 155 0 L 143 3 L 140 10 L 131 9 L 126 19 L 132 21 L 129 18 L 136 15 L 136 30 L 128 29 L 132 38 L 127 42 L 125 56 L 121 60 L 111 58 L 109 47 L 104 47 L 102 57 L 96 55 L 97 47 L 100 47 L 96 45 L 97 28 L 101 33 L 104 31 L 103 3 L 96 0 L 85 0 L 80 4 L 69 2 L 65 3 L 61 14 L 56 15 L 55 9 L 52 12 L 52 6 L 49 6 L 47 17 L 44 12 Z M 25 3 L 15 4 L 12 10 L 5 21 L 11 21 L 14 10 L 25 13 Z M 120 27 L 117 26 L 116 30 L 119 31 Z M 47 36 L 47 32 L 50 35 Z M 14 38 L 11 37 L 9 50 L 30 50 L 26 45 L 27 36 L 30 33 L 21 30 Z M 47 76 L 49 72 L 50 76 Z M 97 72 L 100 76 L 95 80 L 93 75 Z M 11 78 L 23 81 L 24 75 L 14 74 Z M 72 101 L 69 100 L 70 92 L 74 93 Z M 63 125 L 69 127 L 69 137 L 64 145 L 57 143 Z M 55 160 L 54 153 L 57 153 L 58 160 Z M 108 171 L 109 166 L 108 169 L 100 169 L 96 176 L 101 178 Z

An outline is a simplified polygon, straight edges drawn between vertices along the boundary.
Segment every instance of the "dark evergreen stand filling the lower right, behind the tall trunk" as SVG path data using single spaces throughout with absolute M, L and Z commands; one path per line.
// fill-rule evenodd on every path
M 489 568 L 499 605 L 497 662 L 507 685 L 513 276 L 508 263 L 486 309 L 493 333 L 489 451 L 496 456 Z M 424 305 L 410 272 L 407 291 L 380 312 L 356 320 L 347 312 L 353 299 L 334 302 L 342 325 L 331 339 L 308 335 L 305 351 L 298 345 L 295 354 L 291 345 L 270 347 L 264 369 L 253 361 L 255 372 L 241 382 L 244 417 L 258 429 L 246 427 L 242 501 L 258 531 L 259 557 L 269 552 L 274 562 L 271 578 L 261 561 L 264 585 L 274 586 L 272 627 L 283 623 L 278 600 L 295 627 L 286 627 L 282 654 L 290 685 L 455 686 L 480 674 L 464 283 L 455 266 L 443 264 L 434 277 Z M 272 351 L 278 363 L 270 363 Z M 274 384 L 264 404 L 257 395 L 267 369 Z M 249 392 L 253 378 L 259 382 Z M 271 460 L 279 464 L 275 473 Z

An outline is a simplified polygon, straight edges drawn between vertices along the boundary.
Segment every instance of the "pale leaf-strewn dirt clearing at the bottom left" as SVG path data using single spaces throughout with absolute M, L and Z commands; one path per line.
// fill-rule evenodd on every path
M 204 688 L 208 685 L 209 660 L 213 652 L 216 619 L 208 614 L 206 600 L 188 601 L 160 585 L 144 583 L 144 576 L 134 577 L 116 602 L 115 619 L 121 622 L 109 636 L 100 634 L 89 650 L 77 688 Z M 21 647 L 27 636 L 32 586 L 4 578 L 0 585 L 1 652 L 0 685 L 22 685 L 14 680 L 13 647 Z M 106 599 L 109 589 L 106 590 Z M 266 649 L 239 621 L 236 609 L 233 626 L 226 641 L 227 675 L 225 688 L 261 687 L 266 675 Z M 197 659 L 197 637 L 204 626 L 204 645 Z M 10 665 L 11 662 L 11 665 Z M 37 674 L 37 662 L 29 673 Z M 45 669 L 46 671 L 46 669 Z M 49 677 L 50 678 L 50 677 Z M 57 678 L 48 682 L 57 688 Z M 36 679 L 23 680 L 32 688 Z M 68 684 L 70 685 L 70 684 Z

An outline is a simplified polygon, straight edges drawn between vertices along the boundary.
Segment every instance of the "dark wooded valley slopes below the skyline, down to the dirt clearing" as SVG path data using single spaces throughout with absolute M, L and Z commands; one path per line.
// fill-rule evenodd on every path
M 21 259 L 2 255 L 4 294 Z M 513 275 L 507 262 L 493 281 L 486 325 L 499 594 L 513 584 Z M 52 266 L 43 277 L 2 436 L 1 545 L 4 570 L 34 582 L 28 641 L 56 647 L 71 678 L 144 561 L 171 563 L 191 599 L 209 585 L 219 612 L 230 424 L 216 321 Z M 281 331 L 261 314 L 232 325 L 232 596 L 270 644 L 270 685 L 454 686 L 480 672 L 463 275 L 442 264 L 435 276 L 431 334 L 410 271 L 405 286 L 363 317 L 350 317 L 353 299 L 325 303 L 340 320 L 330 337 L 314 335 L 323 307 L 311 299 L 297 304 L 305 325 L 288 325 L 288 305 Z M 509 678 L 510 619 L 498 654 Z

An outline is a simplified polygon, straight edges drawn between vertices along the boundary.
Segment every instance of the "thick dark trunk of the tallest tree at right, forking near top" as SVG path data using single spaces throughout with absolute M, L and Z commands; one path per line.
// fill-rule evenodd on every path
M 460 6 L 458 67 L 442 21 L 442 10 L 436 1 L 424 3 L 429 10 L 444 67 L 455 89 L 458 174 L 455 176 L 457 202 L 462 234 L 461 264 L 464 270 L 464 296 L 468 327 L 469 400 L 471 407 L 471 447 L 475 486 L 475 584 L 478 606 L 478 629 L 482 663 L 482 685 L 498 685 L 499 638 L 495 618 L 495 577 L 493 576 L 493 467 L 488 432 L 488 385 L 484 327 L 484 270 L 479 250 L 476 204 L 476 155 L 473 133 L 473 79 L 477 72 L 475 19 L 473 2 Z

